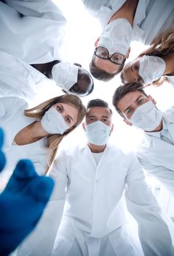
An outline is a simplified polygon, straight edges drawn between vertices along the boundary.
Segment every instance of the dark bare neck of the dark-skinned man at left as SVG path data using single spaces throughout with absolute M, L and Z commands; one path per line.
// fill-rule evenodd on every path
M 47 78 L 52 78 L 52 67 L 58 64 L 60 61 L 51 61 L 42 64 L 31 64 L 32 67 L 39 70 L 42 74 L 46 75 Z

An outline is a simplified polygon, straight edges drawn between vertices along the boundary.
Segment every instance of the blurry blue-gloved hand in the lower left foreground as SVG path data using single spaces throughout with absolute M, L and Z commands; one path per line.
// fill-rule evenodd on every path
M 3 133 L 0 129 L 0 146 Z M 0 148 L 0 168 L 5 157 Z M 1 170 L 0 169 L 0 170 Z M 1 181 L 0 181 L 1 182 Z M 9 255 L 31 233 L 50 198 L 52 178 L 38 176 L 30 160 L 20 160 L 0 195 L 0 255 Z

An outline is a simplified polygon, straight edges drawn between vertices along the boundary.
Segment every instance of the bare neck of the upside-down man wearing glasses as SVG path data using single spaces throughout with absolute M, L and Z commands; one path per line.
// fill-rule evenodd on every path
M 113 20 L 116 20 L 117 18 L 125 18 L 133 26 L 133 19 L 135 16 L 137 5 L 138 5 L 138 0 L 125 1 L 122 7 L 116 13 L 114 13 L 114 15 L 111 17 L 108 23 L 110 23 Z

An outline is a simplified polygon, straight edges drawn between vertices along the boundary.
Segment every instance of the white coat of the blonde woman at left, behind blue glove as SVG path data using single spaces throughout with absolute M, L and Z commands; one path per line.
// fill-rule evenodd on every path
M 17 132 L 36 121 L 36 118 L 29 118 L 24 115 L 24 110 L 28 104 L 24 99 L 17 97 L 0 98 L 0 127 L 4 130 L 5 140 L 3 150 L 7 157 L 6 170 L 9 175 L 19 159 L 31 159 L 36 172 L 41 174 L 47 166 L 47 148 L 46 140 L 43 138 L 23 146 L 12 145 Z M 2 173 L 1 178 L 7 175 L 6 171 Z

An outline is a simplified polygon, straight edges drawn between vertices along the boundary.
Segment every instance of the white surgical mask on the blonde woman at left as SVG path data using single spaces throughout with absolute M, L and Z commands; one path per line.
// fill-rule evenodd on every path
M 60 134 L 68 129 L 63 116 L 53 107 L 49 108 L 41 118 L 41 127 L 50 134 Z

